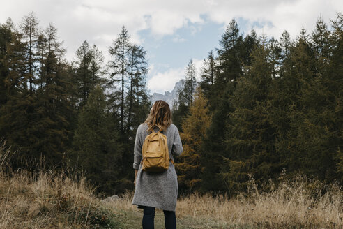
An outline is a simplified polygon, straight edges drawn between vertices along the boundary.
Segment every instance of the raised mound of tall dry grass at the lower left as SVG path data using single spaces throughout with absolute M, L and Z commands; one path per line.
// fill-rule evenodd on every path
M 11 171 L 10 149 L 0 146 L 0 228 L 120 228 L 112 209 L 93 195 L 84 177 L 41 170 Z M 4 172 L 4 171 L 7 172 Z

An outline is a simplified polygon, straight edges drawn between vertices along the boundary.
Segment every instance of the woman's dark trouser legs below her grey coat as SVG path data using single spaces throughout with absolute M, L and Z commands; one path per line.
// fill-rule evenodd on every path
M 165 211 L 165 228 L 176 229 L 176 215 L 174 211 Z M 143 229 L 154 229 L 155 207 L 144 206 L 142 226 Z

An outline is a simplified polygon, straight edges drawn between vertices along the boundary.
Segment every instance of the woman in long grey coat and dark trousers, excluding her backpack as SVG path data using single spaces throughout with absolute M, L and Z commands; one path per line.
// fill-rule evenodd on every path
M 154 228 L 155 207 L 162 209 L 165 214 L 165 228 L 176 228 L 176 199 L 178 195 L 178 181 L 174 164 L 169 162 L 168 170 L 164 172 L 142 171 L 142 145 L 151 131 L 158 131 L 167 136 L 169 157 L 179 156 L 183 152 L 178 128 L 172 124 L 172 112 L 168 103 L 156 101 L 150 114 L 143 124 L 137 128 L 135 139 L 135 195 L 132 204 L 143 208 L 142 226 L 144 229 Z

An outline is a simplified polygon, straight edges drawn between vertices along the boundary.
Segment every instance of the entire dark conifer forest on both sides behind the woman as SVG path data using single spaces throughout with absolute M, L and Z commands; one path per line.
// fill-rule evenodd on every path
M 231 196 L 252 178 L 268 191 L 299 173 L 342 184 L 343 14 L 318 17 L 295 40 L 244 35 L 232 19 L 218 40 L 200 82 L 190 59 L 172 107 L 180 193 Z M 152 105 L 146 50 L 123 26 L 109 50 L 85 40 L 76 61 L 65 54 L 57 28 L 34 13 L 0 24 L 0 137 L 15 152 L 11 168 L 73 168 L 100 195 L 132 191 L 135 134 Z

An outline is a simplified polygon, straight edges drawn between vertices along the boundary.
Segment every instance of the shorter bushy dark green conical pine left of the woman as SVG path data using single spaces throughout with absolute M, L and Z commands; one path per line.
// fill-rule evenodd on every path
M 115 189 L 121 164 L 119 136 L 109 125 L 105 94 L 96 86 L 79 113 L 70 157 L 86 171 L 86 177 L 98 188 L 109 193 Z

